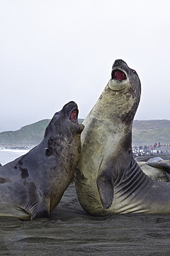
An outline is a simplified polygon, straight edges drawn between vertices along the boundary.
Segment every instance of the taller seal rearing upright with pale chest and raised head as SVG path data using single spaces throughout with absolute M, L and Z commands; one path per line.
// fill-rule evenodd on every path
M 83 122 L 75 184 L 89 214 L 170 213 L 170 183 L 149 178 L 132 153 L 131 128 L 139 101 L 136 71 L 116 60 L 111 80 Z

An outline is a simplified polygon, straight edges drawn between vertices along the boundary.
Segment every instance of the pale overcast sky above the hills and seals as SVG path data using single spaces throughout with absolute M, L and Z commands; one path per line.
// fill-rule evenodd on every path
M 85 118 L 123 59 L 142 83 L 135 119 L 170 119 L 169 0 L 0 0 L 0 131 Z

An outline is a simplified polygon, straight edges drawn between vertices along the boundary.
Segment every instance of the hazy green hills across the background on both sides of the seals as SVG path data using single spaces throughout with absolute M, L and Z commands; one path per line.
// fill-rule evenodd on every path
M 49 122 L 45 119 L 17 131 L 3 131 L 0 143 L 39 144 Z M 83 122 L 83 119 L 78 119 L 78 122 Z M 132 134 L 135 145 L 170 144 L 170 120 L 134 120 Z

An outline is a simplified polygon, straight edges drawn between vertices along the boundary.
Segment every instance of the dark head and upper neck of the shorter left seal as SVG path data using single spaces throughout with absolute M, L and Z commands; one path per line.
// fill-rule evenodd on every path
M 83 129 L 84 125 L 78 123 L 77 104 L 74 101 L 65 104 L 61 111 L 54 114 L 54 117 L 45 130 L 44 143 L 47 144 L 45 146 L 47 147 L 46 156 L 57 156 L 65 148 L 68 148 L 67 152 L 70 150 L 72 152 L 76 148 L 79 150 Z

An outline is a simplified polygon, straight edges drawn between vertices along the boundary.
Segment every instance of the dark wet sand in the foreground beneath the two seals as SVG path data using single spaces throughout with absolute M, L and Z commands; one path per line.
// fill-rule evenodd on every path
M 0 218 L 0 255 L 169 255 L 169 214 L 92 217 L 74 183 L 50 220 Z

